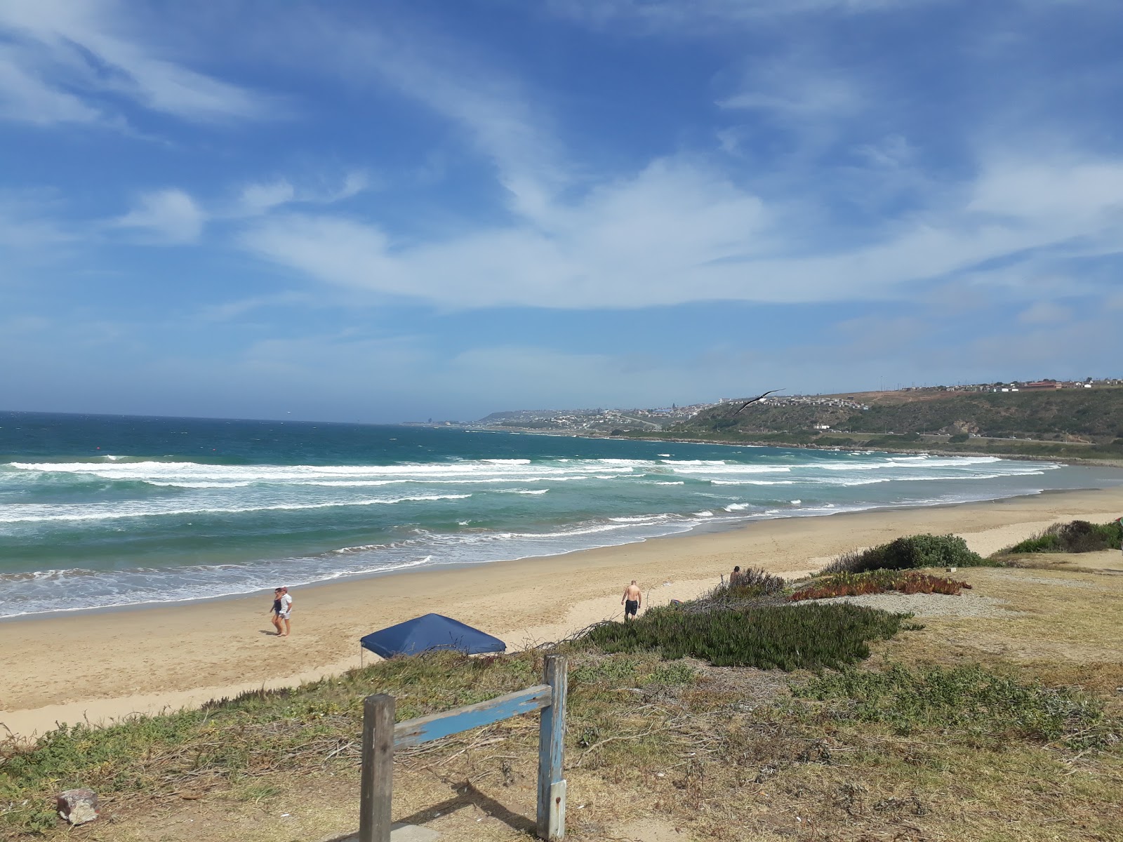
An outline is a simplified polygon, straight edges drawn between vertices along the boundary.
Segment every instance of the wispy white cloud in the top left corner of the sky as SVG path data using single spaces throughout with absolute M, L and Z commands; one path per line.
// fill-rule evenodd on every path
M 0 0 L 0 115 L 35 123 L 121 125 L 113 97 L 189 120 L 266 116 L 274 104 L 170 61 L 112 0 Z

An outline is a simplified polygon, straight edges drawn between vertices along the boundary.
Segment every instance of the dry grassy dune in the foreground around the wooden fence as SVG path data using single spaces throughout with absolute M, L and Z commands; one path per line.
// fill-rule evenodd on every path
M 713 594 L 564 644 L 569 838 L 1123 839 L 1123 576 L 1081 567 L 1087 559 L 1098 556 L 961 569 L 971 594 L 1005 601 L 994 616 L 921 625 L 848 605 L 787 606 L 768 583 L 768 593 Z M 436 653 L 9 741 L 0 836 L 353 832 L 365 695 L 392 693 L 409 719 L 533 684 L 541 659 Z M 713 666 L 724 660 L 791 671 Z M 533 717 L 402 752 L 395 817 L 445 840 L 526 839 L 536 763 Z M 104 814 L 69 832 L 51 798 L 79 785 L 99 791 Z M 626 818 L 637 804 L 642 831 Z

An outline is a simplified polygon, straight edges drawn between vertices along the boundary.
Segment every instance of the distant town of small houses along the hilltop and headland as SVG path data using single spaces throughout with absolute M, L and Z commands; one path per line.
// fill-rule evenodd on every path
M 868 410 L 869 399 L 891 393 L 956 393 L 956 392 L 1051 392 L 1066 388 L 1097 388 L 1123 386 L 1123 378 L 1087 377 L 1083 381 L 1011 381 L 997 383 L 967 383 L 955 385 L 902 386 L 882 392 L 851 392 L 833 395 L 774 394 L 759 401 L 772 406 L 810 405 L 824 409 Z M 551 432 L 612 433 L 620 430 L 663 430 L 694 418 L 703 410 L 724 403 L 748 401 L 755 395 L 719 397 L 712 403 L 693 403 L 647 409 L 582 409 L 582 410 L 509 410 L 493 412 L 478 421 L 407 421 L 417 427 L 454 427 L 474 430 L 531 430 Z M 904 396 L 904 395 L 902 395 Z M 920 396 L 920 395 L 917 395 Z M 825 429 L 825 428 L 824 428 Z

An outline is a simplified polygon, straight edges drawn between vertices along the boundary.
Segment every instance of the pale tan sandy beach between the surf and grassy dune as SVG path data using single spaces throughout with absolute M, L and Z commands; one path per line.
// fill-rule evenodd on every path
M 0 723 L 31 735 L 56 723 L 101 723 L 335 675 L 359 665 L 359 637 L 430 611 L 519 647 L 619 617 L 632 578 L 645 604 L 659 605 L 696 596 L 733 565 L 792 577 L 841 551 L 916 532 L 956 532 L 987 555 L 1058 521 L 1102 522 L 1121 512 L 1123 488 L 1050 493 L 780 519 L 550 558 L 309 586 L 293 591 L 293 633 L 280 639 L 271 633 L 270 593 L 0 622 Z

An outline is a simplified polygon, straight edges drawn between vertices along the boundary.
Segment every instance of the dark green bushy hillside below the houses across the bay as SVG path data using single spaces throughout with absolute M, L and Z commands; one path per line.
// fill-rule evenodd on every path
M 721 404 L 672 428 L 685 434 L 796 433 L 829 424 L 848 433 L 977 433 L 1035 439 L 1123 439 L 1123 388 L 1056 392 L 967 392 L 938 396 L 887 396 L 868 410 L 805 403 L 765 403 L 737 412 Z M 1123 443 L 1123 442 L 1120 442 Z

